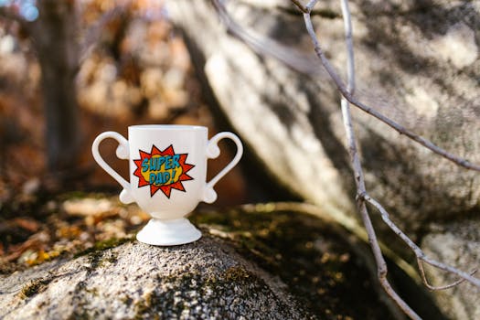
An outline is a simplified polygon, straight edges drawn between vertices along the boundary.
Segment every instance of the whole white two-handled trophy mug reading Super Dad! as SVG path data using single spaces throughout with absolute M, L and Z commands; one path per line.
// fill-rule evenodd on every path
M 119 145 L 116 155 L 130 164 L 130 183 L 116 173 L 99 154 L 106 138 Z M 217 176 L 207 179 L 207 160 L 219 156 L 219 140 L 237 144 L 237 154 Z M 186 216 L 198 202 L 217 199 L 213 189 L 222 176 L 237 165 L 243 153 L 240 139 L 233 133 L 218 133 L 208 141 L 208 129 L 194 125 L 133 125 L 128 140 L 115 132 L 101 133 L 91 145 L 95 161 L 122 187 L 120 200 L 136 202 L 152 216 L 136 238 L 153 245 L 176 245 L 198 240 L 200 231 Z

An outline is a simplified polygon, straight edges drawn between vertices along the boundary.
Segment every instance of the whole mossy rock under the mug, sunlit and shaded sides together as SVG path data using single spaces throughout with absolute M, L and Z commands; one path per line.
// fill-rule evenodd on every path
M 113 241 L 2 276 L 0 318 L 392 317 L 335 224 L 265 207 L 191 219 L 203 231 L 195 243 Z

